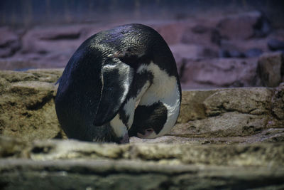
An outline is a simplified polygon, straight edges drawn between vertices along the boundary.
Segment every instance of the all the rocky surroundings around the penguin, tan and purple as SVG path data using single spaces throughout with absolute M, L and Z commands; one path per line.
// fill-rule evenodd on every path
M 0 2 L 0 189 L 284 189 L 280 1 L 38 2 Z M 134 22 L 173 51 L 177 124 L 124 145 L 66 139 L 62 68 L 92 34 Z

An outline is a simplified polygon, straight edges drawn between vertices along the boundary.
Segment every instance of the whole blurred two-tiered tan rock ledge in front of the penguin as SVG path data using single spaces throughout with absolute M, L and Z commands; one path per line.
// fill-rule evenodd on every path
M 117 145 L 2 137 L 0 144 L 0 156 L 9 158 L 0 159 L 3 189 L 284 187 L 283 143 Z

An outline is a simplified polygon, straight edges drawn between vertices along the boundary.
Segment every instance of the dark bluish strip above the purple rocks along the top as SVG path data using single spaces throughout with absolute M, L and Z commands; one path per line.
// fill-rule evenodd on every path
M 195 14 L 263 11 L 275 26 L 283 26 L 280 0 L 1 0 L 0 24 L 89 23 L 119 19 L 184 19 Z

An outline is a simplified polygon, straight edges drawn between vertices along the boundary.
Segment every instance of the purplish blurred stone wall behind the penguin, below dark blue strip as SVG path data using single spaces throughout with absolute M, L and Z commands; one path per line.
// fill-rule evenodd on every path
M 283 82 L 284 30 L 261 11 L 196 14 L 172 20 L 0 27 L 0 69 L 64 68 L 89 36 L 125 23 L 144 23 L 173 51 L 182 88 L 268 86 Z M 272 74 L 272 73 L 273 74 Z

